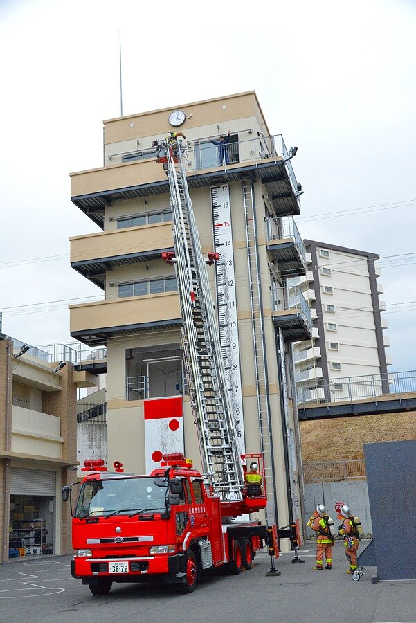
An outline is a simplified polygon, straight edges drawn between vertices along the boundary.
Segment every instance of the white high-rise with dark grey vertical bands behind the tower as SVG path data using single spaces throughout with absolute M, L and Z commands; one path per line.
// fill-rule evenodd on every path
M 390 345 L 383 333 L 379 255 L 304 240 L 307 273 L 300 285 L 314 322 L 311 340 L 293 345 L 300 402 L 347 399 L 388 392 Z M 365 388 L 365 392 L 364 392 Z

